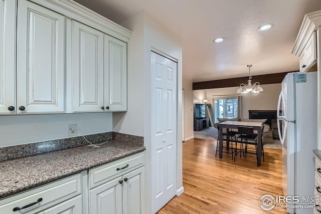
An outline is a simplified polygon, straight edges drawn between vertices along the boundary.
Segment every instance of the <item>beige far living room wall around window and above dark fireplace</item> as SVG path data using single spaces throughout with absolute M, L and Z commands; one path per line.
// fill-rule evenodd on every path
M 249 93 L 242 96 L 240 117 L 249 118 L 249 110 L 276 110 L 278 97 L 281 92 L 281 83 L 261 86 L 264 90 L 263 92 L 258 94 Z M 206 93 L 208 103 L 211 103 L 213 106 L 212 96 L 239 95 L 236 93 L 237 89 L 238 87 L 205 89 L 194 91 L 194 94 L 198 95 L 203 91 L 203 93 Z

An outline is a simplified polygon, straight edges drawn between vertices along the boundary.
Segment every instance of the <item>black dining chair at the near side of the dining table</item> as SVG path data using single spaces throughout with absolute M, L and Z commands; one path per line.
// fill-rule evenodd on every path
M 251 154 L 256 154 L 256 160 L 257 160 L 257 166 L 258 166 L 258 159 L 257 159 L 257 134 L 254 133 L 254 127 L 249 127 L 249 126 L 239 126 L 238 127 L 238 138 L 240 138 L 240 149 L 237 151 L 237 143 L 239 140 L 236 140 L 236 145 L 235 145 L 235 152 L 234 152 L 234 161 L 236 159 L 236 155 L 240 153 L 243 153 L 244 158 L 246 158 L 247 153 Z M 245 145 L 245 147 L 244 147 Z M 255 146 L 255 153 L 254 152 L 249 152 L 248 150 L 248 145 L 254 145 Z M 262 151 L 261 151 L 262 152 Z

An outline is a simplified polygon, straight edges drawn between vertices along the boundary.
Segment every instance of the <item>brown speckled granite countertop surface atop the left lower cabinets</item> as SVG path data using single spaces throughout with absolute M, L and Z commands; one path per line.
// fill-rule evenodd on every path
M 112 140 L 0 162 L 0 198 L 46 184 L 141 151 L 145 146 Z

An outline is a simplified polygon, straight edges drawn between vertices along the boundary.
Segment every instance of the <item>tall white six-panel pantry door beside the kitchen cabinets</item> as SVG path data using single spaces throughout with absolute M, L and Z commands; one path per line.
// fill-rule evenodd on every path
M 177 63 L 151 52 L 152 212 L 176 195 Z

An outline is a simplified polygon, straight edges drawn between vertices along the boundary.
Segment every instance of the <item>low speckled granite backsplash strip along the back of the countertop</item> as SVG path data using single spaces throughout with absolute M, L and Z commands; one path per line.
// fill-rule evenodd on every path
M 144 144 L 143 137 L 141 136 L 123 134 L 118 132 L 104 132 L 98 134 L 85 135 L 85 137 L 89 142 L 93 144 L 99 144 L 107 141 L 108 139 L 122 141 L 128 144 Z M 0 147 L 0 161 L 32 156 L 45 152 L 52 152 L 89 144 L 86 141 L 86 139 L 83 136 L 77 136 L 58 140 L 49 140 L 37 143 Z

